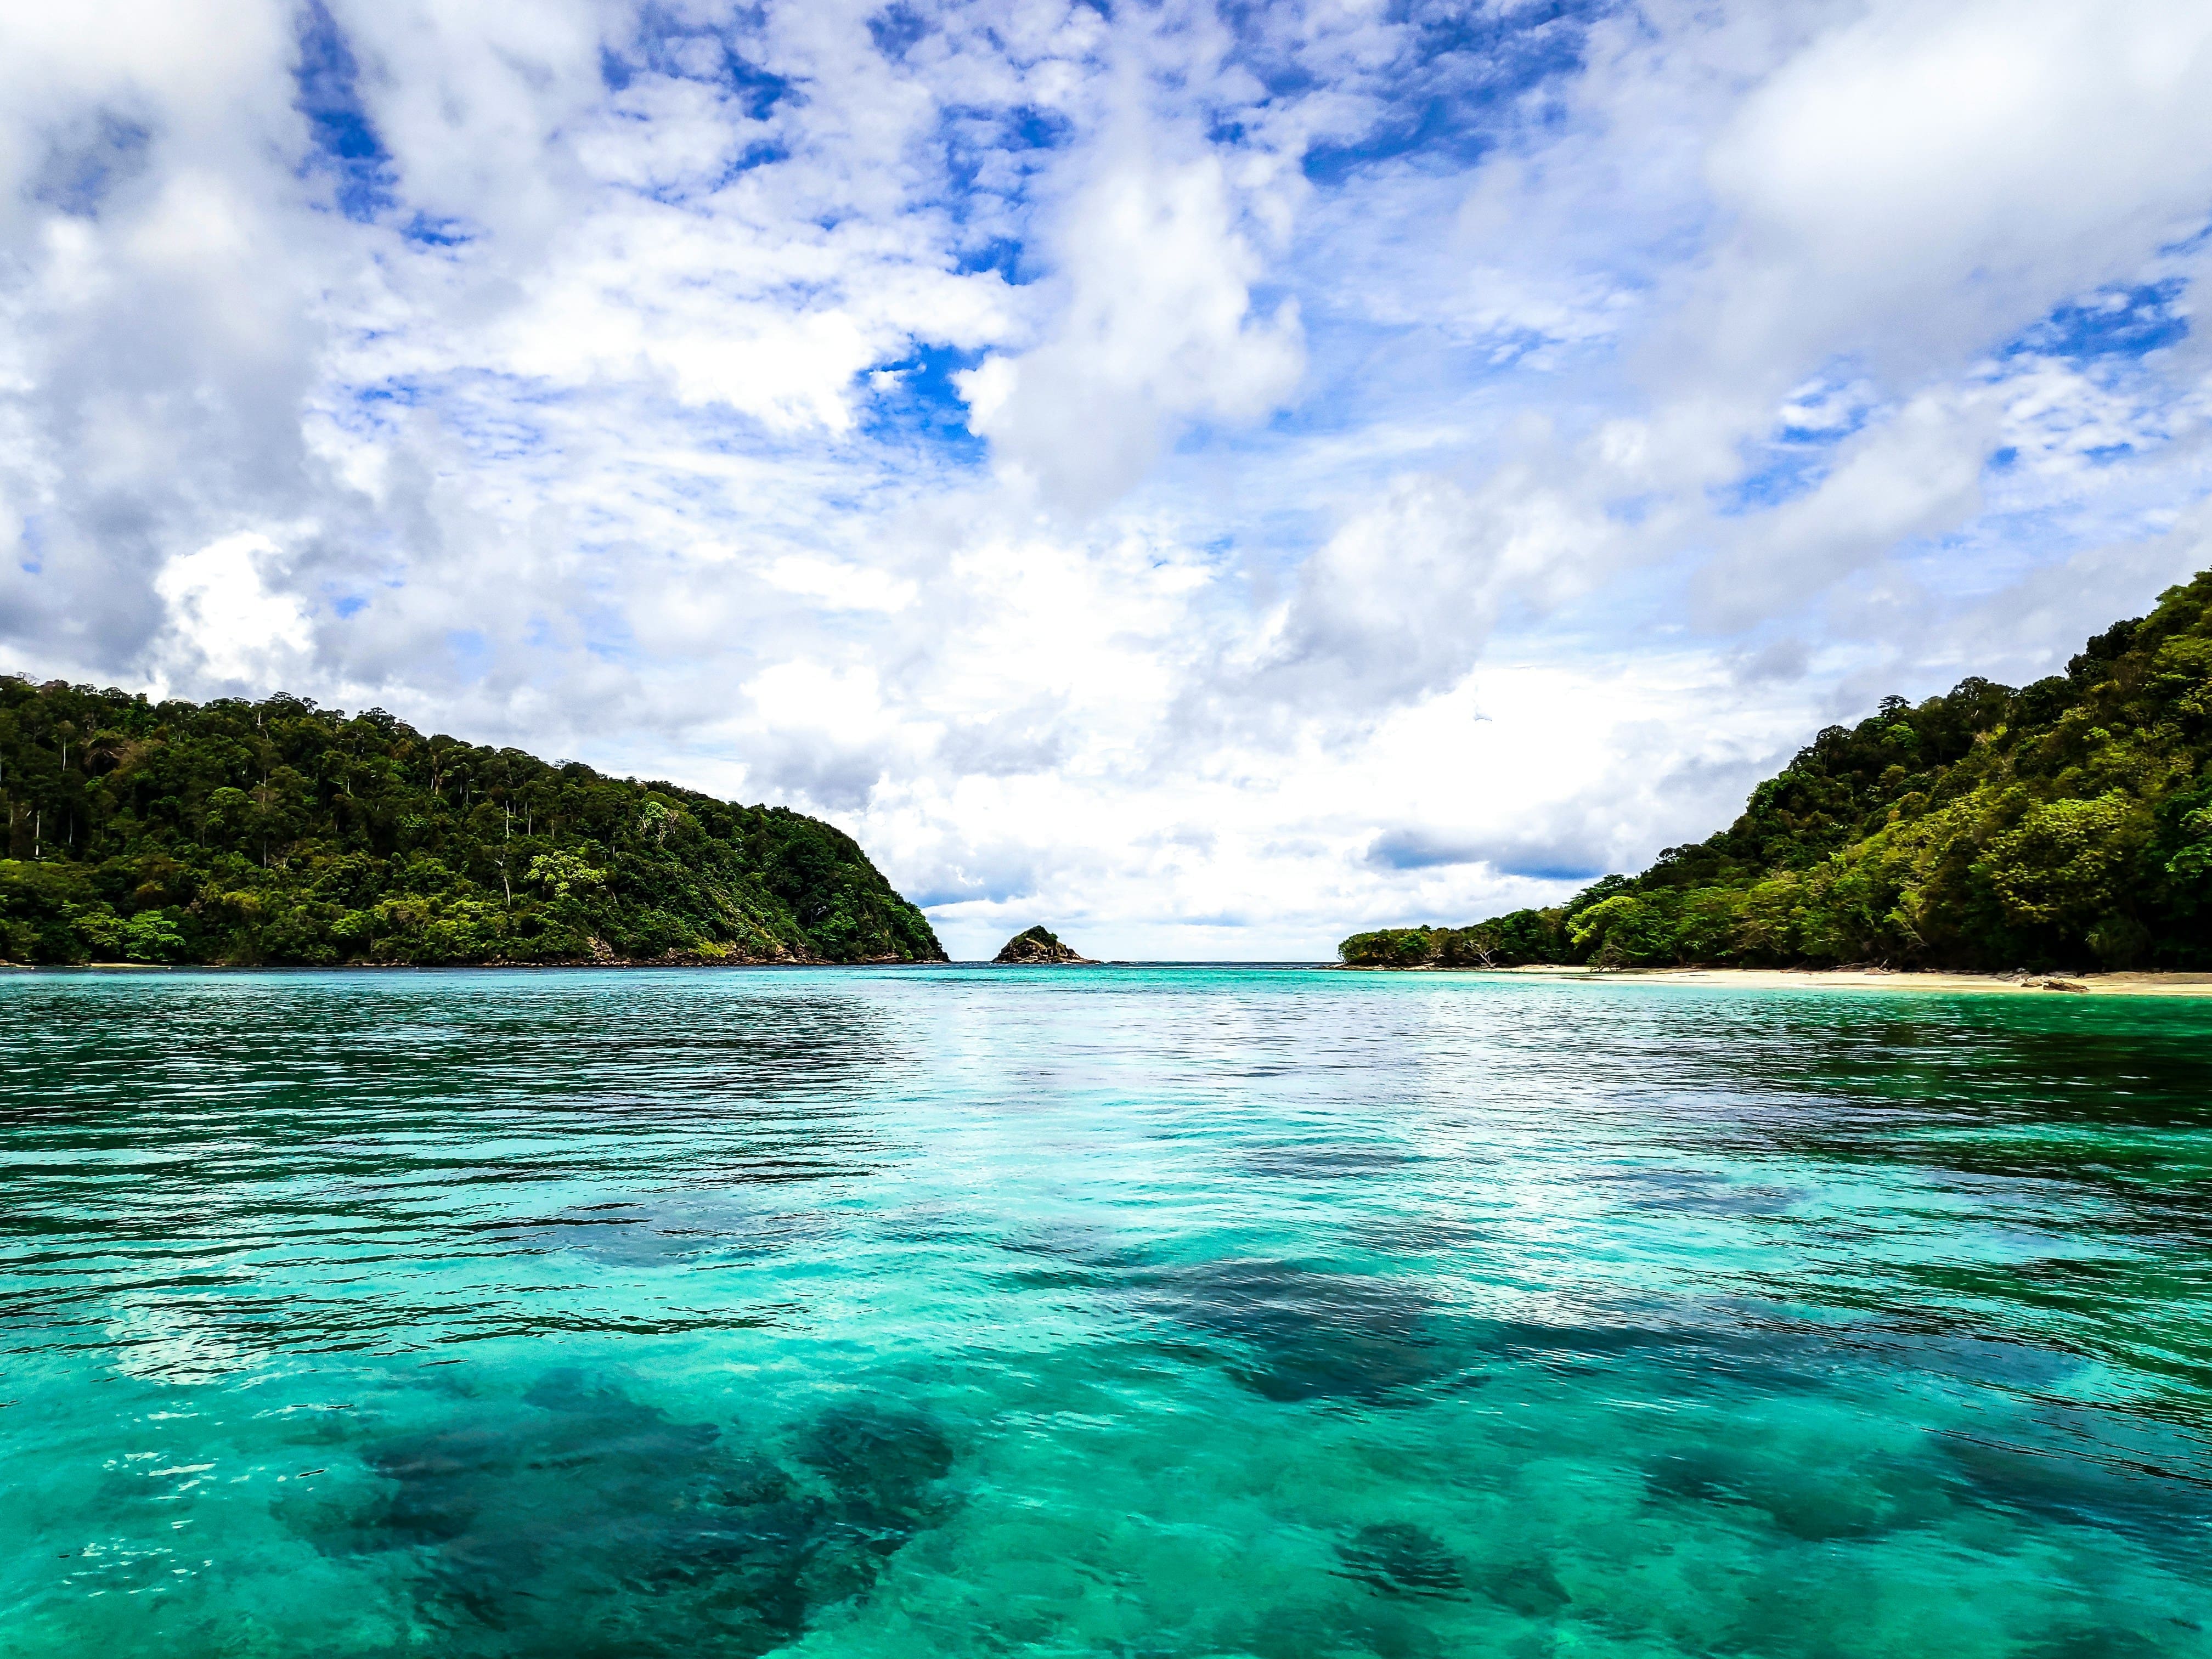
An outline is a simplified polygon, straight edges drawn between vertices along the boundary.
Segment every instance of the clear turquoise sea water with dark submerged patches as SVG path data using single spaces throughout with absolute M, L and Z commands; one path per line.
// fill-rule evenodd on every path
M 9 1655 L 2208 1655 L 2212 1004 L 0 978 Z

